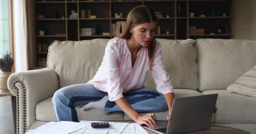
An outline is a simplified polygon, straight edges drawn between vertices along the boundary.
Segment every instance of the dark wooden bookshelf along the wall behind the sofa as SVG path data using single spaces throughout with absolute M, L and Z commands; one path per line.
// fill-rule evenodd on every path
M 160 35 L 155 35 L 156 38 L 232 39 L 235 35 L 235 0 L 34 0 L 34 2 L 36 66 L 33 69 L 42 68 L 38 67 L 38 60 L 47 58 L 47 52 L 38 52 L 38 44 L 49 46 L 55 40 L 112 39 L 114 37 L 111 33 L 112 23 L 126 21 L 128 12 L 139 5 L 147 5 L 163 14 L 163 18 L 158 18 L 157 21 Z M 77 13 L 76 18 L 69 18 L 71 10 Z M 85 18 L 82 18 L 81 10 L 86 10 Z M 91 10 L 91 15 L 96 15 L 96 18 L 88 18 L 88 10 Z M 189 16 L 190 12 L 195 13 L 194 17 Z M 123 16 L 115 18 L 115 13 L 123 13 Z M 202 14 L 205 17 L 200 17 Z M 37 15 L 44 15 L 44 18 L 38 18 Z M 189 26 L 204 28 L 205 32 L 189 34 Z M 230 28 L 230 33 L 216 32 L 219 28 L 224 30 L 226 26 Z M 81 28 L 92 27 L 98 28 L 96 35 L 81 35 Z M 41 30 L 45 31 L 45 35 L 39 35 L 38 31 Z M 166 34 L 166 31 L 170 34 Z M 102 33 L 110 33 L 110 35 L 104 36 Z

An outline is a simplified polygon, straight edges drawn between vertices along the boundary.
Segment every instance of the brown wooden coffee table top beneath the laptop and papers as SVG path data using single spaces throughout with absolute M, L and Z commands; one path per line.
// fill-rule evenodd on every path
M 106 122 L 129 122 L 129 123 L 135 123 L 133 120 L 109 120 Z M 167 127 L 168 121 L 157 121 L 157 124 L 165 124 Z M 153 131 L 145 129 L 149 134 L 157 134 Z M 209 129 L 200 130 L 200 131 L 193 131 L 186 134 L 250 134 L 249 132 L 241 129 L 235 129 L 232 127 L 227 126 L 220 126 L 220 125 L 214 125 L 211 124 L 211 127 Z

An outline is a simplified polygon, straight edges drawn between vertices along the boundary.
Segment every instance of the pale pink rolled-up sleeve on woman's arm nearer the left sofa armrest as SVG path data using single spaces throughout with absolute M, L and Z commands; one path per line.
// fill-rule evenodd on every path
M 123 97 L 123 88 L 120 85 L 120 72 L 118 67 L 118 48 L 112 44 L 108 44 L 105 49 L 105 58 L 107 66 L 107 93 L 109 95 L 109 101 L 116 101 Z

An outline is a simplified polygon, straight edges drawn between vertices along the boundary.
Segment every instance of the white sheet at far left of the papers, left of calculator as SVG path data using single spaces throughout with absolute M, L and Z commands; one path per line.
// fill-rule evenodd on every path
M 87 127 L 86 125 L 88 126 L 88 124 L 80 124 L 72 121 L 49 122 L 37 129 L 28 130 L 27 134 L 69 134 Z

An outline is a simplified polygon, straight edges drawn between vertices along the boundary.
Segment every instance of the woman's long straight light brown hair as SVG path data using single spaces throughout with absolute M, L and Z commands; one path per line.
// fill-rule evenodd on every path
M 122 39 L 131 39 L 131 27 L 137 26 L 142 23 L 150 22 L 157 22 L 157 17 L 154 11 L 149 9 L 146 5 L 137 6 L 128 13 L 124 32 L 120 35 L 117 35 L 116 37 Z M 155 48 L 156 41 L 155 38 L 153 37 L 152 41 L 147 47 L 150 67 L 152 65 L 153 57 L 155 54 Z

